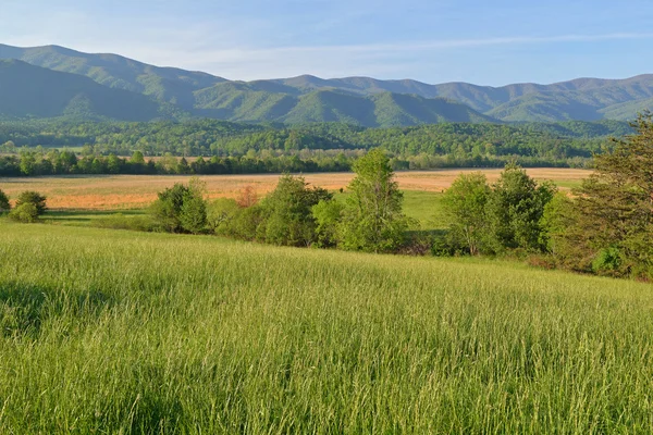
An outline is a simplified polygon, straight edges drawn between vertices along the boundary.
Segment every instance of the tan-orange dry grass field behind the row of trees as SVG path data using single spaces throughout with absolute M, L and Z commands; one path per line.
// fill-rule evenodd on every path
M 396 174 L 403 190 L 440 192 L 448 188 L 461 173 L 476 170 L 442 170 L 424 172 L 398 172 Z M 490 182 L 494 182 L 502 170 L 482 170 Z M 529 169 L 537 179 L 554 181 L 562 189 L 580 183 L 591 173 L 571 169 Z M 352 173 L 307 174 L 306 181 L 328 189 L 347 186 Z M 37 190 L 48 197 L 48 206 L 54 210 L 128 210 L 139 209 L 157 197 L 157 192 L 175 183 L 187 183 L 189 176 L 167 175 L 78 175 L 32 178 L 0 178 L 0 189 L 10 197 L 23 190 Z M 254 186 L 259 195 L 272 190 L 276 185 L 276 174 L 255 175 L 209 175 L 206 181 L 210 198 L 235 197 L 247 185 Z

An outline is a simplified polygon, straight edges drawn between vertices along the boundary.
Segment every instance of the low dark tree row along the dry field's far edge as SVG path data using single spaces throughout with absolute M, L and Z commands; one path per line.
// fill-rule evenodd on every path
M 301 150 L 248 151 L 239 157 L 177 158 L 167 153 L 160 158 L 145 158 L 135 151 L 131 158 L 88 154 L 77 156 L 67 150 L 45 148 L 22 149 L 17 156 L 0 156 L 0 176 L 44 176 L 69 174 L 145 174 L 145 175 L 215 175 L 259 173 L 311 173 L 350 171 L 354 162 L 367 150 Z M 391 154 L 392 156 L 392 154 Z M 566 167 L 565 160 L 551 161 L 528 157 L 475 157 L 419 154 L 408 158 L 391 157 L 394 170 L 430 170 L 442 167 L 502 167 L 508 161 L 526 167 Z

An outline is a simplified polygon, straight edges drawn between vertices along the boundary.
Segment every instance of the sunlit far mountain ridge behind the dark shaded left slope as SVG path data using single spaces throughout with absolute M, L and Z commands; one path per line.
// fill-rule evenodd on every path
M 232 82 L 207 73 L 159 67 L 116 54 L 89 54 L 58 46 L 0 45 L 0 59 L 16 59 L 86 76 L 114 90 L 145 95 L 160 105 L 159 115 L 169 117 L 408 126 L 438 122 L 631 120 L 653 104 L 652 74 L 502 87 L 467 83 L 429 85 L 370 77 L 324 79 L 311 75 Z

